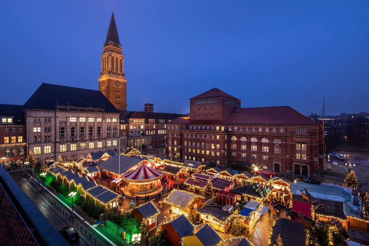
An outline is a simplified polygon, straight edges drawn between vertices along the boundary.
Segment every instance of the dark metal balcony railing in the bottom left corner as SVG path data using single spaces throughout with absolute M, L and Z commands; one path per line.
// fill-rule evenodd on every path
M 0 211 L 5 219 L 8 230 L 11 232 L 11 239 L 15 245 L 39 246 L 33 232 L 28 228 L 24 219 L 15 208 L 2 184 L 0 184 Z

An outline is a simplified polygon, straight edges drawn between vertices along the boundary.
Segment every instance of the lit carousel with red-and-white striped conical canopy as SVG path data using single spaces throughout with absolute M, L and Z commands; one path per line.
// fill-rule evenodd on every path
M 124 187 L 124 194 L 130 197 L 159 194 L 163 190 L 161 184 L 162 176 L 162 171 L 150 169 L 145 164 L 142 164 L 137 169 L 128 171 L 123 175 L 123 180 L 128 183 Z

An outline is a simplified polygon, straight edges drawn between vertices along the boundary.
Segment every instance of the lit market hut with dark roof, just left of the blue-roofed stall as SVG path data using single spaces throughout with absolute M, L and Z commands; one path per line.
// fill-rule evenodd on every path
M 216 231 L 227 232 L 231 226 L 230 219 L 233 214 L 224 211 L 221 208 L 213 206 L 204 206 L 197 213 L 200 219 L 206 221 Z

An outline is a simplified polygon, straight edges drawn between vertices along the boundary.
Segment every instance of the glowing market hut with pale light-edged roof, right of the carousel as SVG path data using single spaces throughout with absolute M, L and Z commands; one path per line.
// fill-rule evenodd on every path
M 196 211 L 201 207 L 201 201 L 201 197 L 179 190 L 171 191 L 163 200 L 163 202 L 172 206 L 173 214 L 184 214 L 186 216 L 190 212 L 195 215 Z

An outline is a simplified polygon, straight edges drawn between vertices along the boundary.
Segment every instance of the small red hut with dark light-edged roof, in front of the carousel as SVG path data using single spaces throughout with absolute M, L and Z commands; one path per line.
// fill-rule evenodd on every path
M 139 207 L 132 209 L 130 212 L 133 217 L 137 218 L 139 223 L 145 219 L 149 231 L 157 226 L 156 216 L 159 214 L 159 211 L 152 202 L 142 204 Z

